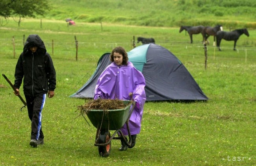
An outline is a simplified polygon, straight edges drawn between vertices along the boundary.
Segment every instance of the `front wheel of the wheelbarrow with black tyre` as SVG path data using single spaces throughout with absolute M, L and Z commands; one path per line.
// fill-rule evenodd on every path
M 99 144 L 104 144 L 109 141 L 110 132 L 108 130 L 100 131 L 100 135 L 98 138 Z M 98 146 L 98 151 L 101 157 L 108 157 L 111 149 L 111 141 L 106 146 Z

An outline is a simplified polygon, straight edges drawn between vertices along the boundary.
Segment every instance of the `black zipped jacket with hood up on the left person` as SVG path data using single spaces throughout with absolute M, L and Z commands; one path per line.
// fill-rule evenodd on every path
M 30 50 L 37 47 L 36 52 Z M 15 68 L 16 89 L 20 88 L 23 80 L 23 91 L 26 96 L 46 94 L 56 88 L 56 72 L 52 58 L 46 52 L 45 44 L 38 35 L 29 35 L 20 54 Z

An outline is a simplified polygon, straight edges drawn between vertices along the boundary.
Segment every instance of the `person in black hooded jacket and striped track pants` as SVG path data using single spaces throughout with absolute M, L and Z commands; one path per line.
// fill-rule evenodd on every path
M 24 79 L 23 79 L 24 77 Z M 42 110 L 48 98 L 54 96 L 56 72 L 45 44 L 38 35 L 29 35 L 15 68 L 14 87 L 19 95 L 23 79 L 23 91 L 27 102 L 28 116 L 31 120 L 30 145 L 44 144 L 41 127 Z

